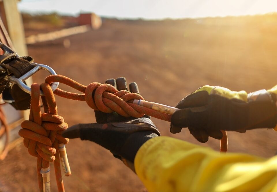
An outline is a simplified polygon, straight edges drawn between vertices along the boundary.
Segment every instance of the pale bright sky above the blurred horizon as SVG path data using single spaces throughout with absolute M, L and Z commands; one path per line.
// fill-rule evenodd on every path
M 277 12 L 277 0 L 21 0 L 18 7 L 30 13 L 162 19 L 265 14 Z

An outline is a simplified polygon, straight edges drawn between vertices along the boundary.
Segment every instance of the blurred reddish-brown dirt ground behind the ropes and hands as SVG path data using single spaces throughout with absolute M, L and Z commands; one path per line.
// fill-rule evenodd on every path
M 35 62 L 52 67 L 84 85 L 124 76 L 136 81 L 145 100 L 175 106 L 203 85 L 231 90 L 269 89 L 277 83 L 276 28 L 245 18 L 186 21 L 104 20 L 98 31 L 29 45 Z M 224 22 L 225 21 L 225 22 Z M 47 73 L 33 76 L 43 82 Z M 68 91 L 74 91 L 60 85 Z M 56 96 L 59 115 L 72 126 L 95 122 L 85 102 Z M 169 132 L 169 123 L 152 118 L 162 135 L 219 150 L 219 141 L 197 142 L 186 128 Z M 229 152 L 262 157 L 276 154 L 277 133 L 261 129 L 228 132 Z M 66 146 L 72 176 L 63 177 L 66 191 L 146 191 L 139 178 L 102 147 L 79 139 Z M 0 162 L 3 191 L 38 191 L 36 158 L 22 145 Z M 51 165 L 51 191 L 57 191 Z

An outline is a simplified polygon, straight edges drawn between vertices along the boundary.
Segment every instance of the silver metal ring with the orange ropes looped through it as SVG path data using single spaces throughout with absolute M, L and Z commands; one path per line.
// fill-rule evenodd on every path
M 11 83 L 16 83 L 23 91 L 31 94 L 31 88 L 24 83 L 26 79 L 28 79 L 29 77 L 31 77 L 33 74 L 35 74 L 41 69 L 48 71 L 51 75 L 57 75 L 57 73 L 47 65 L 38 64 L 38 63 L 32 63 L 32 64 L 35 65 L 35 67 L 30 71 L 28 71 L 27 73 L 25 73 L 24 75 L 22 75 L 21 77 L 16 78 L 14 76 L 10 76 L 10 77 L 5 77 L 5 80 L 10 81 Z M 59 86 L 59 82 L 53 82 L 50 86 L 51 86 L 51 89 L 55 91 Z M 40 96 L 44 96 L 44 93 L 42 91 L 40 91 Z

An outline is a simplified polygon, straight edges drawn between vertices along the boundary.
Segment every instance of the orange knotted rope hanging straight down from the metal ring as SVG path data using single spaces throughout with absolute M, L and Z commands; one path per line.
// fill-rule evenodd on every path
M 40 111 L 40 88 L 44 93 L 44 96 L 41 97 L 44 113 Z M 63 117 L 57 114 L 57 105 L 50 85 L 47 83 L 31 85 L 29 120 L 21 123 L 23 129 L 19 131 L 19 135 L 24 138 L 24 146 L 28 148 L 30 155 L 38 157 L 37 174 L 41 192 L 43 192 L 43 183 L 40 170 L 41 168 L 47 168 L 49 162 L 53 161 L 58 191 L 64 191 L 58 143 L 68 143 L 69 139 L 61 135 L 62 131 L 68 128 L 68 124 L 64 122 Z

